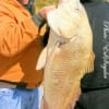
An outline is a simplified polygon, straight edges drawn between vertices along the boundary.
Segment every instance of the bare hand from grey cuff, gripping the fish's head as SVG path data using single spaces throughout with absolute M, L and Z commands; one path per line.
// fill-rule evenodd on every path
M 44 7 L 44 8 L 39 11 L 39 13 L 41 14 L 41 16 L 43 16 L 44 19 L 47 20 L 47 14 L 48 14 L 50 11 L 55 10 L 55 9 L 56 9 L 55 5 Z

